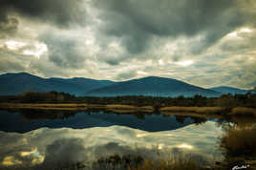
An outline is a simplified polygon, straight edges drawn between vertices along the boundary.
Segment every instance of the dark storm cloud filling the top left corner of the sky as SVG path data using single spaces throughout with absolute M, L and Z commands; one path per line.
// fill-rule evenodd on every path
M 59 27 L 85 23 L 85 8 L 81 0 L 1 0 L 0 22 L 12 12 L 53 22 Z

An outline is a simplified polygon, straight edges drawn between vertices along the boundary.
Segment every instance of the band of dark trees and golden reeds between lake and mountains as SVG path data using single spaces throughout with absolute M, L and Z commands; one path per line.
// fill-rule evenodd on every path
M 0 96 L 0 108 L 41 110 L 90 110 L 104 109 L 119 113 L 190 113 L 198 117 L 256 116 L 256 94 L 223 95 L 219 97 L 76 97 L 66 93 L 26 92 L 19 96 Z

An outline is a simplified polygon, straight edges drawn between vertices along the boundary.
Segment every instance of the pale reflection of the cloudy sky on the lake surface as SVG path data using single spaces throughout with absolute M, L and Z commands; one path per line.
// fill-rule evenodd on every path
M 0 132 L 0 162 L 2 167 L 44 169 L 66 162 L 90 165 L 98 158 L 114 154 L 167 159 L 170 154 L 190 153 L 210 160 L 221 158 L 215 146 L 222 133 L 222 128 L 212 121 L 161 132 L 119 125 L 87 129 L 41 128 L 25 134 Z

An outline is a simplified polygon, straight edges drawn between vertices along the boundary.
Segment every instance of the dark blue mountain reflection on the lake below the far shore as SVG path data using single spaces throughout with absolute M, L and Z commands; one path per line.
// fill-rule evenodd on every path
M 148 132 L 174 130 L 192 123 L 205 122 L 206 118 L 145 115 L 134 113 L 124 115 L 105 111 L 95 112 L 59 112 L 59 111 L 0 111 L 0 131 L 26 133 L 42 127 L 84 129 L 127 126 Z

